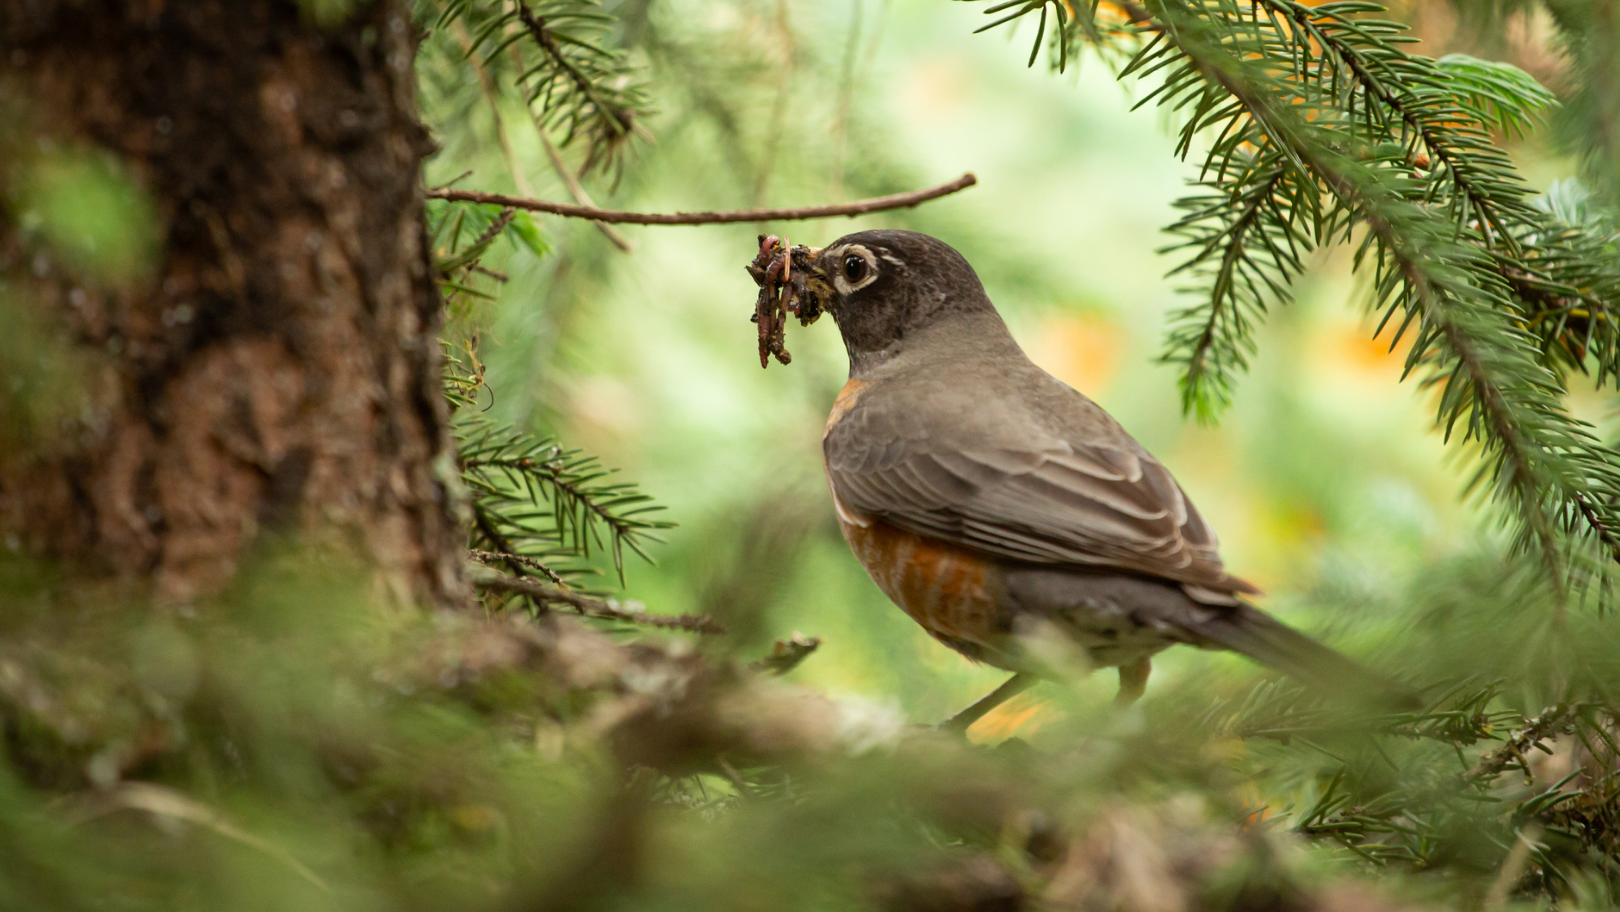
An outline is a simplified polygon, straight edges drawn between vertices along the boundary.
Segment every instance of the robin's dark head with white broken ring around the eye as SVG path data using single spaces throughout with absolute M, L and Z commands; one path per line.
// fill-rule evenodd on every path
M 995 317 L 974 267 L 951 245 L 928 235 L 857 232 L 812 248 L 807 259 L 807 288 L 838 321 L 855 373 L 894 355 L 927 329 L 962 317 Z

